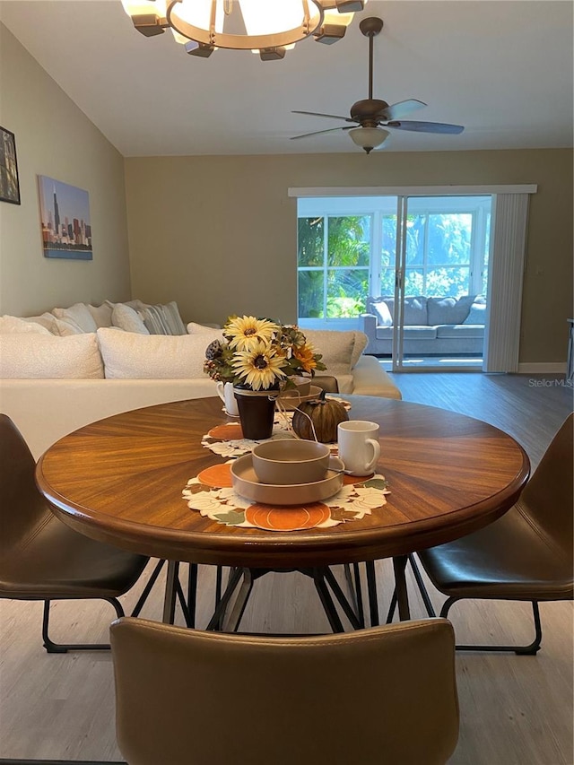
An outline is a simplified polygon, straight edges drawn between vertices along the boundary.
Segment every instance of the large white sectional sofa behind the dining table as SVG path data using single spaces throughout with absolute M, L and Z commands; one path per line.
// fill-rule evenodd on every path
M 36 458 L 65 434 L 103 417 L 217 395 L 203 363 L 206 346 L 221 329 L 190 323 L 186 335 L 157 335 L 142 327 L 103 325 L 104 305 L 84 306 L 100 317 L 100 326 L 93 327 L 80 320 L 85 315 L 79 305 L 55 309 L 59 316 L 0 317 L 0 411 L 13 419 Z M 126 310 L 115 313 L 134 321 Z M 337 378 L 342 393 L 401 397 L 377 359 L 362 355 L 367 343 L 362 333 L 306 330 L 306 335 L 324 354 L 324 374 Z

